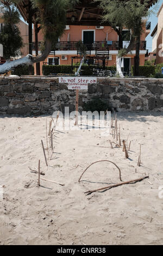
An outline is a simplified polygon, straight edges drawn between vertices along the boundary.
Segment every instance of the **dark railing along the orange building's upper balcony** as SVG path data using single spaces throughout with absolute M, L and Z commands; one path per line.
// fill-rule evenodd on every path
M 55 45 L 55 49 L 52 50 L 51 54 L 55 51 L 77 51 L 76 47 L 77 41 L 60 41 Z M 85 44 L 87 50 L 118 50 L 118 41 L 94 41 L 92 44 Z M 39 48 L 41 47 L 41 42 L 39 42 Z M 133 49 L 136 50 L 136 43 L 133 45 Z M 146 41 L 140 41 L 140 50 L 146 50 Z M 33 51 L 35 51 L 35 42 L 33 42 Z

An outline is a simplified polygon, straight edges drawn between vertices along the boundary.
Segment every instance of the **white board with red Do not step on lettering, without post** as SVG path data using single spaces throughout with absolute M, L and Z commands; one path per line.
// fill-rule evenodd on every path
M 97 77 L 59 77 L 59 83 L 67 83 L 70 90 L 87 90 L 89 83 L 97 83 Z

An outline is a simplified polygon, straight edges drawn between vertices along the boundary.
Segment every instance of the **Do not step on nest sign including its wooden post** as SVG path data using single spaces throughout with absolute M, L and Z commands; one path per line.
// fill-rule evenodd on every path
M 78 125 L 79 90 L 87 90 L 88 84 L 97 83 L 97 77 L 59 77 L 59 83 L 67 83 L 69 90 L 76 90 L 76 123 Z

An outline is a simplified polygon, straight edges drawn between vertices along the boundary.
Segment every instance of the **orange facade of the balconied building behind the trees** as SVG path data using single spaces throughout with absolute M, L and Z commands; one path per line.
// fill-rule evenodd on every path
M 147 22 L 143 28 L 140 42 L 140 65 L 145 64 L 146 54 L 146 36 L 150 33 L 151 23 Z M 124 41 L 123 46 L 128 46 L 129 41 L 126 41 L 127 29 L 123 30 Z M 38 40 L 41 45 L 43 41 L 43 35 L 41 31 L 38 35 Z M 118 35 L 109 26 L 73 26 L 67 25 L 64 34 L 59 38 L 58 44 L 55 49 L 49 54 L 45 62 L 42 65 L 71 65 L 72 62 L 80 61 L 77 57 L 76 43 L 82 40 L 87 46 L 87 50 L 90 50 L 91 56 L 95 56 L 96 50 L 109 50 L 108 66 L 116 65 L 116 56 L 118 53 Z M 126 57 L 124 57 L 124 72 L 130 72 L 131 66 L 134 65 L 134 56 L 136 53 L 136 45 L 133 46 L 133 50 Z M 33 44 L 33 55 L 35 56 L 35 43 Z M 91 63 L 93 64 L 93 63 Z M 36 70 L 36 68 L 35 68 Z M 42 73 L 41 73 L 42 75 Z

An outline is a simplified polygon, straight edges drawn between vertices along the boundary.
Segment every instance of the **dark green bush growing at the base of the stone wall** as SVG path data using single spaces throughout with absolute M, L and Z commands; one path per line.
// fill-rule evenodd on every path
M 83 110 L 84 111 L 110 111 L 110 107 L 107 102 L 102 101 L 101 99 L 92 99 L 86 103 L 84 103 Z

